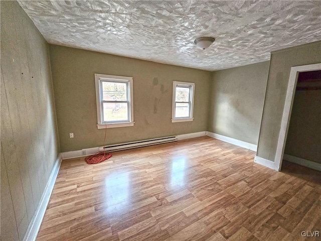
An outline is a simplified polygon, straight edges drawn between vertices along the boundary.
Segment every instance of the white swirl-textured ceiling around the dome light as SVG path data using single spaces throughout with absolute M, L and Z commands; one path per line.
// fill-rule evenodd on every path
M 321 40 L 320 1 L 19 1 L 49 43 L 205 70 Z M 194 40 L 211 36 L 206 50 Z

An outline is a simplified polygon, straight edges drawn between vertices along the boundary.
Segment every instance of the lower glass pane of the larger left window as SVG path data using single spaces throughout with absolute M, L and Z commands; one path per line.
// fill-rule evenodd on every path
M 127 103 L 103 103 L 104 122 L 129 122 Z

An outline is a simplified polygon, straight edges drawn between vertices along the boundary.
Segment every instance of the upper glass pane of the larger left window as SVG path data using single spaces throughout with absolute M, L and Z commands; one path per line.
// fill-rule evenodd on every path
M 126 83 L 103 81 L 101 84 L 103 100 L 127 100 Z

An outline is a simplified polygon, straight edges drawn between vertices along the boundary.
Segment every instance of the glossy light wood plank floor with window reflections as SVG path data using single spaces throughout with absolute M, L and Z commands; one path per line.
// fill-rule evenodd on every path
M 201 137 L 96 165 L 64 160 L 37 240 L 276 241 L 320 231 L 320 172 L 286 162 L 276 172 L 254 155 Z

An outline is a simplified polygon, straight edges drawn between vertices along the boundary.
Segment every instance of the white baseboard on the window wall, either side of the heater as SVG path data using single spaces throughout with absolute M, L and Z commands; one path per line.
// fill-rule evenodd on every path
M 177 135 L 177 140 L 182 141 L 185 139 L 191 139 L 191 138 L 196 138 L 196 137 L 203 137 L 206 136 L 207 132 L 196 132 L 196 133 L 189 133 L 189 134 L 183 134 L 183 135 Z M 115 145 L 120 145 L 115 144 Z M 82 149 L 82 150 L 77 150 L 77 151 L 70 151 L 70 152 L 62 152 L 61 156 L 62 159 L 71 159 L 71 158 L 77 158 L 77 157 L 84 157 L 88 155 L 93 155 L 99 152 L 99 147 L 94 147 L 94 148 L 87 148 L 87 149 Z

